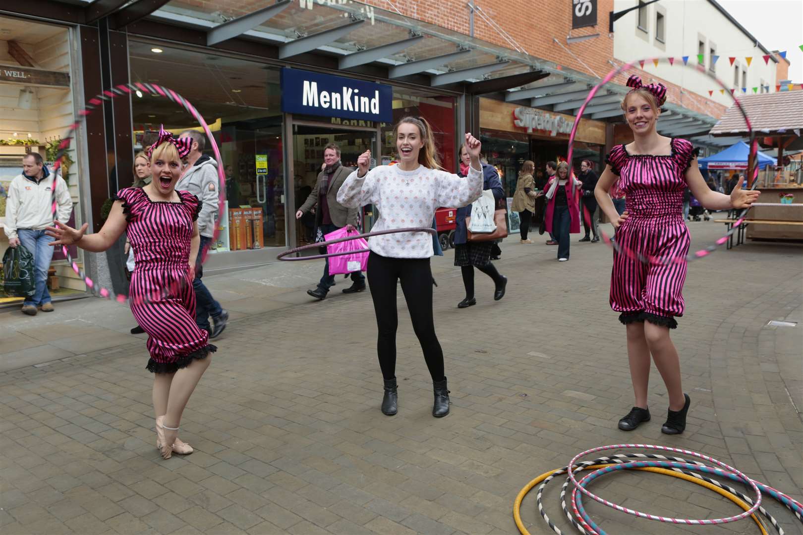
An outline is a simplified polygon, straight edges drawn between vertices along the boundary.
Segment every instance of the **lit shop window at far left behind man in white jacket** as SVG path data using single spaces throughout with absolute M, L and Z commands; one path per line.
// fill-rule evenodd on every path
M 63 26 L 0 17 L 0 229 L 5 225 L 6 196 L 11 180 L 22 173 L 22 158 L 39 153 L 52 169 L 58 145 L 75 122 L 71 31 Z M 27 67 L 35 63 L 37 67 Z M 73 202 L 68 225 L 82 224 L 79 184 L 79 140 L 75 138 L 62 160 L 59 174 L 67 182 Z M 0 230 L 0 258 L 8 248 Z M 71 257 L 83 266 L 75 246 Z M 54 299 L 83 294 L 84 282 L 67 265 L 60 249 L 53 252 L 48 289 Z M 21 302 L 2 293 L 0 305 Z

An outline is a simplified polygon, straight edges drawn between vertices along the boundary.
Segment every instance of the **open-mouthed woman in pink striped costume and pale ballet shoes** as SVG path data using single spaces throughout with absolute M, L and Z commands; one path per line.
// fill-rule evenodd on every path
M 78 245 L 98 253 L 105 251 L 124 232 L 134 249 L 137 268 L 131 276 L 131 311 L 149 334 L 153 376 L 153 408 L 156 412 L 157 448 L 165 459 L 173 453 L 193 452 L 178 440 L 178 424 L 201 375 L 209 367 L 209 334 L 195 324 L 192 280 L 198 256 L 198 213 L 201 201 L 192 193 L 175 191 L 181 176 L 181 158 L 190 152 L 190 138 L 175 139 L 161 129 L 146 152 L 153 180 L 144 188 L 121 189 L 99 233 L 56 222 L 50 227 L 57 241 L 51 245 Z

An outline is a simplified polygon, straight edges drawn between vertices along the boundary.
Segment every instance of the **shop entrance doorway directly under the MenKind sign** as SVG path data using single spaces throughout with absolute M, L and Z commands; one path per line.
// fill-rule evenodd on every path
M 313 194 L 321 166 L 324 163 L 324 148 L 335 143 L 340 148 L 340 162 L 345 167 L 357 168 L 357 157 L 370 149 L 377 154 L 376 128 L 332 128 L 328 124 L 294 122 L 292 125 L 291 172 L 296 206 L 293 213 L 304 205 Z M 372 167 L 376 164 L 372 164 Z M 315 192 L 317 196 L 317 192 Z M 291 207 L 287 207 L 290 209 Z M 296 247 L 315 242 L 316 214 L 320 209 L 315 205 L 314 212 L 304 214 L 296 221 Z M 373 213 L 370 208 L 361 209 L 361 222 L 365 232 L 373 225 Z M 295 218 L 295 216 L 292 216 Z M 310 254 L 316 254 L 311 249 Z

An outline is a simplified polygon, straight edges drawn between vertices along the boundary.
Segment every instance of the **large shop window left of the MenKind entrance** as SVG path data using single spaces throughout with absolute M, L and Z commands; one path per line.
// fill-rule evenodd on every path
M 285 246 L 279 69 L 164 46 L 155 53 L 152 47 L 152 43 L 129 43 L 132 82 L 158 83 L 184 96 L 210 125 L 220 148 L 226 206 L 218 221 L 218 241 L 210 245 L 210 252 Z M 177 104 L 147 94 L 132 96 L 132 118 L 137 152 L 160 125 L 175 135 L 200 129 L 198 121 Z M 204 154 L 214 157 L 209 144 Z

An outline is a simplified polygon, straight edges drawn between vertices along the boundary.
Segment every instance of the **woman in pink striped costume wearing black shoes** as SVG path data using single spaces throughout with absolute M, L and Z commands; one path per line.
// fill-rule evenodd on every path
M 619 428 L 632 431 L 650 419 L 647 384 L 650 355 L 661 373 L 669 394 L 669 410 L 661 432 L 682 433 L 691 399 L 683 393 L 680 362 L 669 330 L 683 315 L 683 282 L 686 261 L 662 264 L 657 259 L 685 257 L 689 251 L 689 231 L 683 222 L 683 190 L 691 188 L 708 209 L 741 209 L 756 201 L 758 192 L 741 188 L 730 196 L 711 191 L 697 165 L 697 149 L 687 140 L 659 136 L 655 126 L 666 101 L 661 83 L 642 85 L 630 76 L 630 93 L 622 101 L 625 120 L 634 140 L 611 149 L 595 197 L 617 229 L 616 241 L 623 252 L 613 253 L 610 280 L 610 306 L 620 312 L 626 325 L 627 355 L 633 381 L 635 405 L 619 420 Z M 619 215 L 609 197 L 616 187 L 626 194 L 626 211 Z M 636 255 L 652 258 L 639 260 Z

